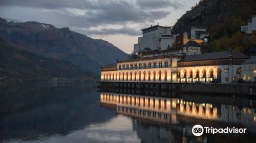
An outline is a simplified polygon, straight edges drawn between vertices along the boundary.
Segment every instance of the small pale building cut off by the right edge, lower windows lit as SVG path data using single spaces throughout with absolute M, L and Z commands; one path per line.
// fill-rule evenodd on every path
M 242 78 L 246 82 L 256 82 L 256 56 L 242 63 Z

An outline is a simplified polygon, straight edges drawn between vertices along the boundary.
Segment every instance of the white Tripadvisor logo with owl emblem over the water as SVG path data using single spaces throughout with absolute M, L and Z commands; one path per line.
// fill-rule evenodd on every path
M 195 136 L 201 136 L 203 133 L 210 133 L 210 134 L 215 134 L 215 133 L 246 133 L 246 128 L 212 128 L 212 127 L 202 127 L 201 125 L 195 125 L 192 128 L 192 133 Z

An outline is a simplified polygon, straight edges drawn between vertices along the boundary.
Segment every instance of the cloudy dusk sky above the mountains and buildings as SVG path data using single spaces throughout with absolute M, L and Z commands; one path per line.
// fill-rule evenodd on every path
M 131 54 L 151 25 L 173 26 L 199 0 L 0 0 L 0 17 L 69 27 Z

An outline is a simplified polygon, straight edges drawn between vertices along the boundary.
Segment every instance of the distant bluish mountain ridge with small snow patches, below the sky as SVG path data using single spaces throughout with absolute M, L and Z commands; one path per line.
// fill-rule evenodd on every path
M 46 23 L 7 22 L 0 18 L 0 37 L 19 49 L 71 61 L 97 74 L 100 66 L 128 56 L 108 41 L 93 39 L 69 28 L 58 29 Z

